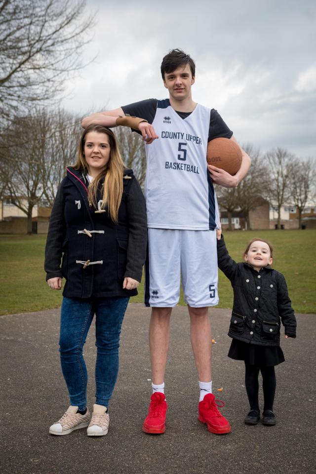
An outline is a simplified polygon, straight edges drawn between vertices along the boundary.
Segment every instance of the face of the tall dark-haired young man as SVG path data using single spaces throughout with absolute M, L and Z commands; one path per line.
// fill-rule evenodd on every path
M 191 98 L 191 86 L 194 81 L 190 65 L 186 64 L 179 66 L 172 73 L 164 73 L 163 83 L 172 99 L 183 101 Z

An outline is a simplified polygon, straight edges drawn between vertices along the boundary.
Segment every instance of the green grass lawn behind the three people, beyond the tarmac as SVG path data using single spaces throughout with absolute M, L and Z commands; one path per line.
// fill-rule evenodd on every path
M 274 268 L 286 278 L 296 313 L 316 313 L 316 231 L 235 231 L 226 232 L 231 256 L 241 261 L 247 241 L 252 237 L 270 240 L 274 247 Z M 43 270 L 46 236 L 0 236 L 0 314 L 25 313 L 61 305 L 60 291 L 49 290 Z M 219 272 L 218 308 L 231 308 L 233 291 L 230 281 Z M 143 281 L 139 295 L 143 302 Z M 184 305 L 181 294 L 180 305 Z

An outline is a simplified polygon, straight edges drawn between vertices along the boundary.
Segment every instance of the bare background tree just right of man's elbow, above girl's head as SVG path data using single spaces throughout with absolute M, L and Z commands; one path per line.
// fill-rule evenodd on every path
M 238 184 L 237 202 L 245 216 L 247 229 L 251 229 L 249 213 L 263 203 L 263 196 L 270 187 L 270 176 L 260 151 L 254 150 L 249 144 L 242 148 L 251 157 L 251 166 L 248 174 Z

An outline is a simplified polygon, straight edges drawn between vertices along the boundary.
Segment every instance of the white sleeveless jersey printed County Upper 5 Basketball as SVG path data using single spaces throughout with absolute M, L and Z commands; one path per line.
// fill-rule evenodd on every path
M 183 119 L 169 99 L 157 101 L 158 139 L 146 145 L 148 227 L 206 231 L 219 227 L 219 212 L 206 166 L 210 109 L 197 104 Z

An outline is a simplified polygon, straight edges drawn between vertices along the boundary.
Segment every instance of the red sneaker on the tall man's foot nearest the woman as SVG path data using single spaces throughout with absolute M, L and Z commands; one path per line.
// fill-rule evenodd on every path
M 164 394 L 155 392 L 151 396 L 148 415 L 143 424 L 143 432 L 159 435 L 166 431 L 164 422 L 166 420 L 167 402 Z

